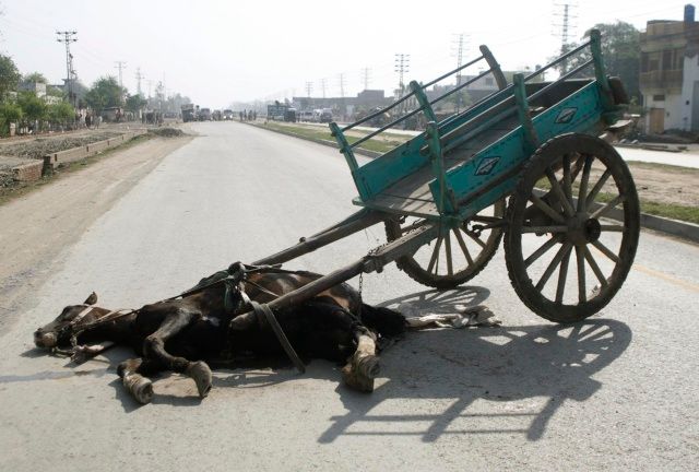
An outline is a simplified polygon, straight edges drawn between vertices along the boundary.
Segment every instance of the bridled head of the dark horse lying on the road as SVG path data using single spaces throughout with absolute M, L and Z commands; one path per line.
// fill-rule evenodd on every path
M 97 294 L 92 293 L 81 305 L 69 305 L 48 324 L 34 332 L 34 344 L 42 349 L 67 347 L 70 339 L 82 326 L 99 319 L 108 309 L 94 306 Z

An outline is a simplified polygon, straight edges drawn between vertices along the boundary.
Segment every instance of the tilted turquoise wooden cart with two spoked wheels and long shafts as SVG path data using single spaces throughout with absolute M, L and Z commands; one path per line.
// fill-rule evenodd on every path
M 411 92 L 391 106 L 344 127 L 331 123 L 357 188 L 354 203 L 363 209 L 256 263 L 286 262 L 374 224 L 384 225 L 388 243 L 270 307 L 303 302 L 393 261 L 423 284 L 455 287 L 485 268 L 503 237 L 512 286 L 534 312 L 573 322 L 602 309 L 632 264 L 639 202 L 626 164 L 607 143 L 625 125 L 628 99 L 621 83 L 606 75 L 600 44 L 593 31 L 587 44 L 529 75 L 514 74 L 511 83 L 482 46 L 481 57 L 448 74 L 411 82 Z M 542 80 L 573 56 L 589 60 L 553 82 Z M 471 67 L 485 70 L 428 97 L 428 87 Z M 450 95 L 486 79 L 497 90 L 437 119 Z M 380 129 L 360 128 L 396 110 Z M 355 149 L 415 116 L 426 122 L 424 132 L 359 163 Z

